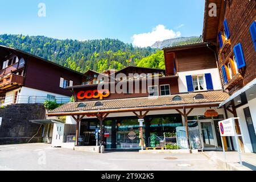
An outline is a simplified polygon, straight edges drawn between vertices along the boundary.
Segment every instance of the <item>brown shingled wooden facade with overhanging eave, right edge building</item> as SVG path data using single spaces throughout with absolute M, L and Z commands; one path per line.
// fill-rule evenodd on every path
M 211 0 L 207 1 L 205 6 L 208 7 L 210 2 L 216 3 L 217 9 L 220 11 L 217 11 L 216 17 L 209 17 L 207 14 L 209 9 L 205 9 L 203 37 L 204 41 L 216 44 L 218 67 L 220 68 L 222 84 L 229 94 L 233 94 L 256 77 L 256 53 L 249 28 L 256 19 L 256 2 Z M 216 22 L 216 19 L 218 19 L 218 22 Z M 228 39 L 225 37 L 225 20 L 228 24 L 230 34 Z M 212 27 L 213 25 L 215 28 Z M 215 34 L 214 39 L 212 35 L 213 32 Z M 218 34 L 221 35 L 222 47 L 220 47 Z M 245 60 L 245 67 L 241 69 L 236 68 L 236 58 L 234 58 L 234 47 L 239 43 L 241 43 Z M 225 67 L 226 79 L 228 81 L 225 81 L 222 67 Z

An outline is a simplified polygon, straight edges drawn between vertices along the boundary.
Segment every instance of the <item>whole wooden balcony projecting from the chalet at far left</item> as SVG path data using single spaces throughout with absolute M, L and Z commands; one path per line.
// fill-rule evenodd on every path
M 19 88 L 24 83 L 24 76 L 8 74 L 0 77 L 0 93 Z

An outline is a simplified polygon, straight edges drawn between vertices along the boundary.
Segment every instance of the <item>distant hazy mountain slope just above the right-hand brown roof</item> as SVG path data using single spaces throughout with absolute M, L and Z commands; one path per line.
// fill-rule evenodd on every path
M 196 43 L 196 42 L 201 42 L 201 38 L 199 36 L 181 37 L 181 38 L 158 41 L 158 42 L 155 42 L 151 47 L 162 49 L 164 47 L 180 46 L 180 45 Z

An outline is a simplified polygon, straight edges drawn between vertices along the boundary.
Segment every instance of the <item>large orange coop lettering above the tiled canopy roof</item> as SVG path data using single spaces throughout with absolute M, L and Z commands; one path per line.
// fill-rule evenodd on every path
M 87 90 L 87 91 L 80 91 L 77 93 L 76 97 L 79 100 L 90 99 L 90 98 L 100 98 L 102 100 L 104 97 L 109 97 L 110 92 L 108 89 L 102 90 Z

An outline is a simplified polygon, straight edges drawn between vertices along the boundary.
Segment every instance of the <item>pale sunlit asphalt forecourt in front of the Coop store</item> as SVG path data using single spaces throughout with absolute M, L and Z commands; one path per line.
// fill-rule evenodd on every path
M 50 144 L 0 146 L 0 170 L 220 170 L 203 154 L 139 154 L 138 152 L 73 151 Z

